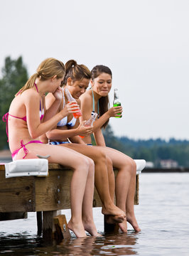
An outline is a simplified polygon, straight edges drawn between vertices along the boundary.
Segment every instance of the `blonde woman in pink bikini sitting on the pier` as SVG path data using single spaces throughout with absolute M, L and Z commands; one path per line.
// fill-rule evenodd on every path
M 49 163 L 62 164 L 73 169 L 70 183 L 72 216 L 68 228 L 77 238 L 82 238 L 86 236 L 85 230 L 90 230 L 92 235 L 98 235 L 92 217 L 94 162 L 72 149 L 43 144 L 39 139 L 69 113 L 78 111 L 77 103 L 68 103 L 56 114 L 62 100 L 60 85 L 64 75 L 65 67 L 61 61 L 54 58 L 44 60 L 14 97 L 9 113 L 4 115 L 4 121 L 13 160 L 50 155 Z M 52 92 L 55 97 L 49 110 L 45 110 L 46 92 Z

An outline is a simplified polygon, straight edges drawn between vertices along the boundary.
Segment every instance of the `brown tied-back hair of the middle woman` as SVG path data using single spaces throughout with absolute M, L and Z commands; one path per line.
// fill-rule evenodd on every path
M 68 62 L 65 63 L 65 78 L 63 80 L 63 85 L 67 84 L 68 78 L 71 78 L 73 82 L 82 80 L 83 78 L 90 80 L 91 73 L 86 65 L 79 65 L 75 60 L 68 60 Z

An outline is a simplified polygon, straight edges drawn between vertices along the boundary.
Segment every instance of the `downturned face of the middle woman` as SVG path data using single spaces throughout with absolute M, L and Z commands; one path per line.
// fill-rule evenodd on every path
M 86 91 L 90 79 L 83 78 L 82 80 L 76 80 L 75 82 L 68 82 L 68 90 L 70 91 L 72 97 L 79 99 L 79 97 Z

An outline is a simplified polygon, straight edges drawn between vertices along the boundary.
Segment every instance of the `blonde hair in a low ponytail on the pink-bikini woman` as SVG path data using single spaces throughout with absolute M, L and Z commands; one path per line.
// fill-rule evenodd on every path
M 64 78 L 65 65 L 60 60 L 56 60 L 55 58 L 47 58 L 43 60 L 43 62 L 38 66 L 37 72 L 31 75 L 26 84 L 21 87 L 16 95 L 32 88 L 36 78 L 40 78 L 40 80 L 45 81 L 53 78 L 54 75 L 57 75 L 57 79 Z

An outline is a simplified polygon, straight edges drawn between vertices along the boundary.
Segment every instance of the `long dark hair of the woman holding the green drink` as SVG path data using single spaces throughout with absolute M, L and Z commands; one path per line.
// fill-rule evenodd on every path
M 112 78 L 112 71 L 110 70 L 110 68 L 108 68 L 105 65 L 96 65 L 91 70 L 91 79 L 94 80 L 95 78 L 97 78 L 102 73 L 109 74 L 109 75 L 111 75 L 111 78 Z M 105 96 L 105 97 L 99 98 L 99 116 L 101 117 L 102 114 L 107 112 L 108 109 L 109 109 L 109 97 L 108 97 L 108 95 Z M 107 122 L 105 122 L 102 125 L 102 127 L 105 129 L 107 127 L 108 123 L 109 123 L 109 119 L 107 120 Z

